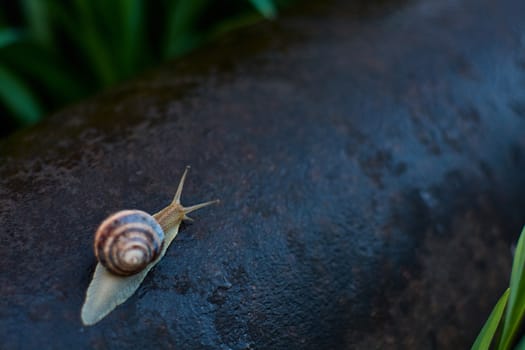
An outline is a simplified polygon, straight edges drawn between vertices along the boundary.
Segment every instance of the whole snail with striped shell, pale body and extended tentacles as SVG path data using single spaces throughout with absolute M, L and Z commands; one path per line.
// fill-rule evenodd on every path
M 173 201 L 156 214 L 122 210 L 104 220 L 95 233 L 98 264 L 82 305 L 84 325 L 93 325 L 125 302 L 138 289 L 148 272 L 164 256 L 188 213 L 218 200 L 189 207 L 180 203 L 188 173 L 186 167 Z

